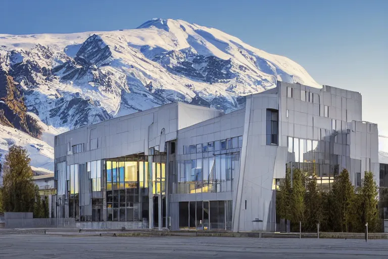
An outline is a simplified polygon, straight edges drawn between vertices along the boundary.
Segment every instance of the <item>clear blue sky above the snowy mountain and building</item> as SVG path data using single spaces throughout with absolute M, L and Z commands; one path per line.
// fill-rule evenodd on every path
M 152 18 L 218 28 L 301 64 L 320 84 L 361 92 L 388 135 L 388 1 L 2 0 L 0 33 L 135 28 Z

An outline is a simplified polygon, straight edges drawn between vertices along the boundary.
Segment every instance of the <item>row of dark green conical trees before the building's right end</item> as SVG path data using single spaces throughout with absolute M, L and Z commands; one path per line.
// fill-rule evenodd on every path
M 327 232 L 364 232 L 366 223 L 369 232 L 381 231 L 378 187 L 372 172 L 366 171 L 355 189 L 344 169 L 334 178 L 330 191 L 319 190 L 317 177 L 299 168 L 292 175 L 288 168 L 276 192 L 276 213 L 290 222 L 291 231 L 299 232 L 299 222 L 303 232 L 316 232 L 317 223 L 320 231 Z

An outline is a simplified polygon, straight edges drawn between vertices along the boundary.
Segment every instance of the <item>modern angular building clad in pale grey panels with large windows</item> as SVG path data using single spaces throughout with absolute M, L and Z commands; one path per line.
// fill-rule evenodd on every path
M 286 167 L 379 182 L 361 95 L 278 82 L 228 114 L 171 103 L 55 138 L 56 213 L 84 228 L 273 231 Z

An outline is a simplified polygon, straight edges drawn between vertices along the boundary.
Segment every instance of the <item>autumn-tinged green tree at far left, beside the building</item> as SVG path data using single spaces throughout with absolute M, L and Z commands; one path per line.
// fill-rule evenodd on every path
M 42 200 L 33 182 L 27 151 L 12 146 L 3 165 L 3 187 L 0 189 L 0 212 L 33 212 L 34 218 L 49 218 L 47 197 Z

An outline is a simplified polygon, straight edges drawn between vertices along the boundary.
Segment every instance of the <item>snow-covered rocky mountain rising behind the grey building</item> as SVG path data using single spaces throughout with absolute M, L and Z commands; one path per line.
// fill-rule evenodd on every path
M 29 151 L 44 160 L 33 165 L 47 170 L 54 167 L 52 136 L 72 128 L 175 101 L 230 111 L 277 80 L 320 88 L 288 58 L 171 19 L 119 31 L 0 34 L 0 70 L 21 92 L 26 116 L 41 128 L 32 135 L 0 118 L 0 152 L 11 143 L 38 145 L 33 137 L 41 138 L 42 146 Z M 3 84 L 0 89 L 6 89 Z M 17 134 L 10 134 L 10 126 Z

